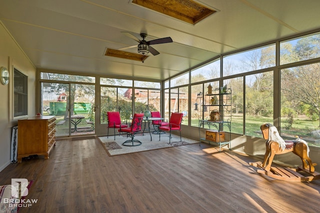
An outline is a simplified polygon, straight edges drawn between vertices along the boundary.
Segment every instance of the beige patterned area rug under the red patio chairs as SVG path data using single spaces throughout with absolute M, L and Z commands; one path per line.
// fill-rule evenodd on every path
M 141 141 L 142 144 L 134 147 L 127 147 L 122 145 L 124 141 L 130 139 L 130 138 L 127 138 L 126 135 L 115 136 L 115 141 L 114 141 L 113 135 L 109 136 L 109 138 L 107 138 L 106 136 L 98 137 L 98 139 L 103 145 L 104 149 L 107 151 L 109 156 L 199 143 L 199 141 L 197 140 L 193 140 L 185 137 L 181 137 L 182 140 L 180 141 L 180 137 L 178 135 L 172 135 L 171 144 L 169 144 L 168 133 L 162 134 L 160 141 L 159 141 L 159 135 L 156 135 L 156 134 L 151 134 L 151 135 L 152 135 L 152 141 L 150 141 L 149 133 L 144 133 L 143 136 L 142 136 L 142 133 L 135 135 L 134 139 Z

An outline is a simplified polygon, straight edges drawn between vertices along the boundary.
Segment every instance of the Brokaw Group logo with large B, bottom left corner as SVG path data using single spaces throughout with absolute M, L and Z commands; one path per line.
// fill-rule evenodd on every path
M 21 178 L 11 179 L 11 198 L 3 198 L 1 203 L 7 204 L 9 208 L 21 208 L 21 207 L 31 207 L 32 204 L 37 203 L 37 199 L 23 199 L 27 196 L 28 191 L 28 180 Z

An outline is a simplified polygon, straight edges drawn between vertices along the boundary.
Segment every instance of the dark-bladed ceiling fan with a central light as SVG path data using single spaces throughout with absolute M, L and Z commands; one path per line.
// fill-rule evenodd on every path
M 158 51 L 156 51 L 153 47 L 151 47 L 150 45 L 152 44 L 161 44 L 161 43 L 170 43 L 172 42 L 172 39 L 170 37 L 165 37 L 165 38 L 158 38 L 158 39 L 154 39 L 154 40 L 150 40 L 150 41 L 146 41 L 145 38 L 147 37 L 146 33 L 140 33 L 140 36 L 142 37 L 142 40 L 140 40 L 139 38 L 137 38 L 136 36 L 134 36 L 133 34 L 131 34 L 130 32 L 122 32 L 123 34 L 125 34 L 126 36 L 132 38 L 133 40 L 137 41 L 139 44 L 137 45 L 133 45 L 133 46 L 127 46 L 127 47 L 122 47 L 119 50 L 123 50 L 123 49 L 129 49 L 132 47 L 137 46 L 138 47 L 138 53 L 140 53 L 141 55 L 146 55 L 149 52 L 152 55 L 158 55 L 160 54 Z

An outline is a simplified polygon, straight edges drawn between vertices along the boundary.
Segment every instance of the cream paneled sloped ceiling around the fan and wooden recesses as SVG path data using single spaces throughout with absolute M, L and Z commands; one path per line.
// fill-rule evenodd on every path
M 320 0 L 195 0 L 218 10 L 188 24 L 130 0 L 0 0 L 0 20 L 37 68 L 163 80 L 220 54 L 320 28 Z M 144 61 L 104 56 L 146 32 L 160 52 Z M 137 52 L 136 48 L 125 51 Z

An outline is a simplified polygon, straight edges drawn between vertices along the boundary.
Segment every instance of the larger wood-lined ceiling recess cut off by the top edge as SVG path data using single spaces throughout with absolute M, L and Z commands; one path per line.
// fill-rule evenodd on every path
M 217 12 L 193 0 L 132 0 L 131 2 L 191 24 Z

